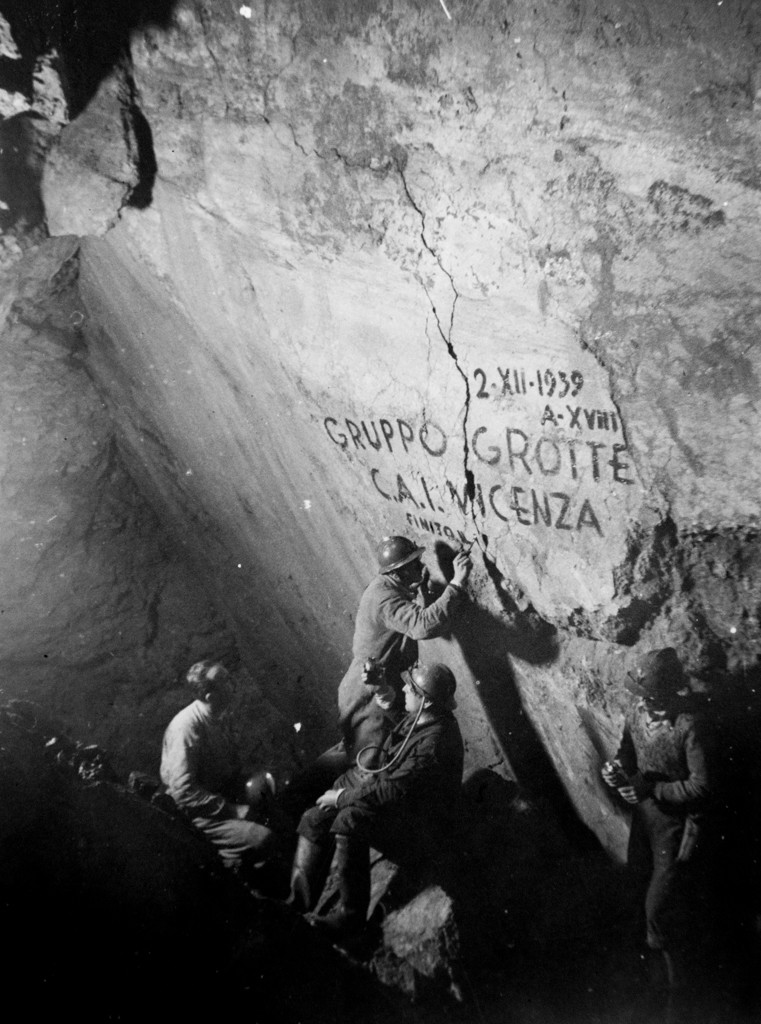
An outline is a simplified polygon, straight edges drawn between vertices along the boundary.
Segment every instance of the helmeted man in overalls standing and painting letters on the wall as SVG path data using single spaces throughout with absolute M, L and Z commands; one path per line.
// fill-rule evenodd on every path
M 378 547 L 378 574 L 360 601 L 354 626 L 352 660 L 338 687 L 338 713 L 343 745 L 353 761 L 360 751 L 369 767 L 378 760 L 387 721 L 383 707 L 400 703 L 401 673 L 418 659 L 418 640 L 439 636 L 451 624 L 464 596 L 471 562 L 465 551 L 455 555 L 455 574 L 443 593 L 426 607 L 428 570 L 419 548 L 406 537 L 384 537 Z M 372 659 L 384 681 L 369 685 L 366 663 Z

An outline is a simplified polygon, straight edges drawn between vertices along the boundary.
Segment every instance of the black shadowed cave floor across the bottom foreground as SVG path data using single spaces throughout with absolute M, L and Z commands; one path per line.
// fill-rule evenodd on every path
M 736 885 L 722 894 L 737 905 L 717 926 L 711 956 L 670 997 L 658 962 L 635 942 L 625 872 L 593 845 L 574 849 L 550 836 L 536 811 L 488 837 L 495 862 L 514 861 L 511 887 L 491 888 L 488 867 L 470 880 L 482 909 L 447 951 L 447 983 L 434 978 L 410 998 L 379 981 L 375 963 L 341 954 L 280 901 L 249 892 L 198 837 L 105 777 L 92 752 L 88 764 L 23 711 L 0 709 L 0 897 L 5 997 L 32 1019 L 745 1024 L 761 1016 L 761 938 Z

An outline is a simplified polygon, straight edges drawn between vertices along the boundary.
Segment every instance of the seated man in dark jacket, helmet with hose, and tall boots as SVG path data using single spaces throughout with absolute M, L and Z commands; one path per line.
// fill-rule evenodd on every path
M 312 909 L 333 870 L 338 905 L 314 924 L 342 935 L 362 928 L 370 899 L 369 848 L 432 859 L 447 846 L 447 818 L 462 783 L 463 741 L 452 714 L 455 677 L 443 665 L 403 674 L 407 715 L 383 742 L 381 764 L 360 762 L 299 822 L 291 876 L 293 906 Z

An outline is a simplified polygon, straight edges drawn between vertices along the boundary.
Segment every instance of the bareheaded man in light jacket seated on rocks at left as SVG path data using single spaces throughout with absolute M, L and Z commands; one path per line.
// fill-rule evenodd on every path
M 227 867 L 240 868 L 244 858 L 262 864 L 279 843 L 271 828 L 249 820 L 250 804 L 236 802 L 240 766 L 223 721 L 232 699 L 229 674 L 207 660 L 192 666 L 185 678 L 196 699 L 164 733 L 161 780 Z

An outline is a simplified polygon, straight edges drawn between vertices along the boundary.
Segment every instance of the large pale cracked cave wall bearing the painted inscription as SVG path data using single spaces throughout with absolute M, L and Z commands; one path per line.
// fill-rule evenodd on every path
M 176 5 L 61 130 L 47 225 L 248 663 L 322 738 L 377 539 L 439 579 L 474 542 L 469 757 L 525 713 L 620 850 L 633 658 L 714 641 L 731 687 L 759 650 L 758 8 L 450 9 Z

